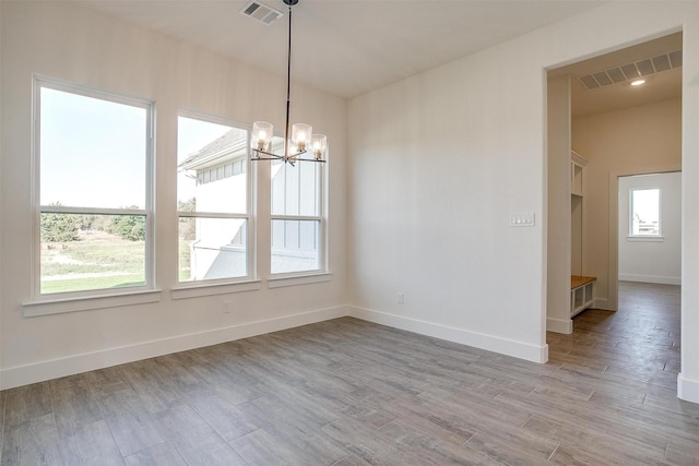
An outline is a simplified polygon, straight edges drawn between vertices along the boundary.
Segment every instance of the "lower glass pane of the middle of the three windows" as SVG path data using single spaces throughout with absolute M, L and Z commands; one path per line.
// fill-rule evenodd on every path
M 179 218 L 179 280 L 248 275 L 244 218 Z

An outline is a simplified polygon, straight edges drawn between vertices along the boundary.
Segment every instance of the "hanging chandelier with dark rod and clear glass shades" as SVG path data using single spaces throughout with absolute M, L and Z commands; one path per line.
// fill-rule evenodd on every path
M 286 53 L 286 126 L 284 128 L 284 153 L 272 152 L 274 127 L 266 121 L 256 121 L 252 124 L 250 140 L 251 160 L 283 160 L 294 165 L 296 162 L 319 162 L 328 151 L 328 138 L 324 134 L 313 134 L 310 124 L 295 123 L 289 126 L 291 91 L 292 91 L 292 7 L 298 0 L 282 0 L 288 5 L 288 51 Z

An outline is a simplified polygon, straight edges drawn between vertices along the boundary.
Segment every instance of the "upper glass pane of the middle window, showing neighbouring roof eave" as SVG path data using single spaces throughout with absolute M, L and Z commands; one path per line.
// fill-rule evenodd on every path
M 248 132 L 179 117 L 177 210 L 246 214 Z M 233 170 L 235 163 L 240 169 Z

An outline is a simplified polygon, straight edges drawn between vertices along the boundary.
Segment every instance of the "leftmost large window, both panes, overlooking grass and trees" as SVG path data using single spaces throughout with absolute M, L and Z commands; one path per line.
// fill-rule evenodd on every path
M 153 288 L 153 105 L 35 80 L 37 295 Z

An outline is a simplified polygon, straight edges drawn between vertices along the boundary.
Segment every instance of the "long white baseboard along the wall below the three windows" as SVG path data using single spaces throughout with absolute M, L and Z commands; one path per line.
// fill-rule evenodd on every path
M 156 356 L 169 355 L 171 353 L 186 351 L 188 349 L 217 345 L 220 343 L 232 342 L 240 338 L 248 338 L 270 332 L 279 332 L 345 315 L 347 315 L 347 308 L 345 306 L 339 306 L 335 308 L 303 312 L 294 315 L 285 315 L 282 318 L 233 325 L 224 328 L 215 328 L 205 332 L 174 336 L 170 338 L 144 342 L 137 345 L 74 355 L 26 366 L 17 366 L 0 371 L 0 390 L 43 382 L 80 372 L 153 358 Z

